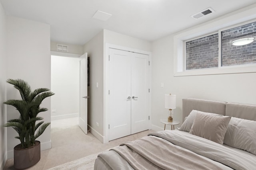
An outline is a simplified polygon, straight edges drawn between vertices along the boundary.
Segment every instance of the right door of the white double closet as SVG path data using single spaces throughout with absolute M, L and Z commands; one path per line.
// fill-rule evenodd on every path
M 131 64 L 131 132 L 149 129 L 149 63 L 148 55 L 132 53 Z

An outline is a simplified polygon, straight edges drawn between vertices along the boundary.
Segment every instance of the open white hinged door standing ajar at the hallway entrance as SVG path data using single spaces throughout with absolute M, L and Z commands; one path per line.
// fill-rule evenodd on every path
M 78 125 L 87 134 L 87 53 L 84 53 L 80 58 L 80 109 Z

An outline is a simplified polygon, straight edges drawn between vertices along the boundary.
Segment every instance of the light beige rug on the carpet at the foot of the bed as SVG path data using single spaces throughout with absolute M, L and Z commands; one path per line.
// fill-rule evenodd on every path
M 48 170 L 93 170 L 95 159 L 99 153 L 91 154 L 89 156 L 85 156 L 84 158 L 73 160 Z

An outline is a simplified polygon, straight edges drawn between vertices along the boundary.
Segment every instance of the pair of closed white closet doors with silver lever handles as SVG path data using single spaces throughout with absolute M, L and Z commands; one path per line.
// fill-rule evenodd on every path
M 149 56 L 109 49 L 109 141 L 149 129 Z

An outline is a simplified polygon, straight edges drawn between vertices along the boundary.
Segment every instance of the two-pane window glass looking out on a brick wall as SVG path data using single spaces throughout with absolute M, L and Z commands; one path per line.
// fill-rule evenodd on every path
M 186 70 L 256 63 L 256 22 L 218 32 L 184 41 Z M 255 41 L 232 45 L 232 41 L 247 37 L 253 37 Z

